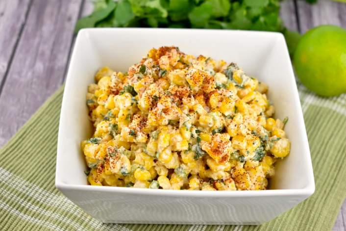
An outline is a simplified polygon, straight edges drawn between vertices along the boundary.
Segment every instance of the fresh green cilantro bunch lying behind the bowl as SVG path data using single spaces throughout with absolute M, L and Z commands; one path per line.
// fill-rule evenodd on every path
M 284 33 L 290 53 L 300 35 L 279 16 L 280 0 L 95 0 L 94 12 L 78 20 L 86 27 L 170 27 L 266 30 Z

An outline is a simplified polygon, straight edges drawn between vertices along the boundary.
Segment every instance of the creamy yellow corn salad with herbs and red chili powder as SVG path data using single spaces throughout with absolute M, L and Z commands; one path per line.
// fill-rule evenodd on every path
M 151 49 L 127 73 L 102 67 L 87 93 L 91 185 L 263 190 L 290 153 L 268 86 L 235 63 Z

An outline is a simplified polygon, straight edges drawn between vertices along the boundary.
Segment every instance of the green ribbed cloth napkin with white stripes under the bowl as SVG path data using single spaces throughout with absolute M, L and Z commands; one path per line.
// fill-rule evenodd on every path
M 346 94 L 327 99 L 298 89 L 316 191 L 264 225 L 102 224 L 86 214 L 54 186 L 61 87 L 0 150 L 0 230 L 331 230 L 346 197 Z

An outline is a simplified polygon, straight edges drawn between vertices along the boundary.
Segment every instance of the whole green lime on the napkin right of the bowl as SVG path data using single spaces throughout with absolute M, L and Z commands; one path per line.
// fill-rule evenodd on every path
M 294 55 L 300 81 L 321 96 L 346 92 L 346 29 L 317 26 L 300 39 Z

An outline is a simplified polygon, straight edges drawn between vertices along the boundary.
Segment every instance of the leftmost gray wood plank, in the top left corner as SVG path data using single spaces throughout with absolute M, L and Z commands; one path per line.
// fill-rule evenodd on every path
M 0 1 L 0 92 L 21 36 L 31 0 Z

